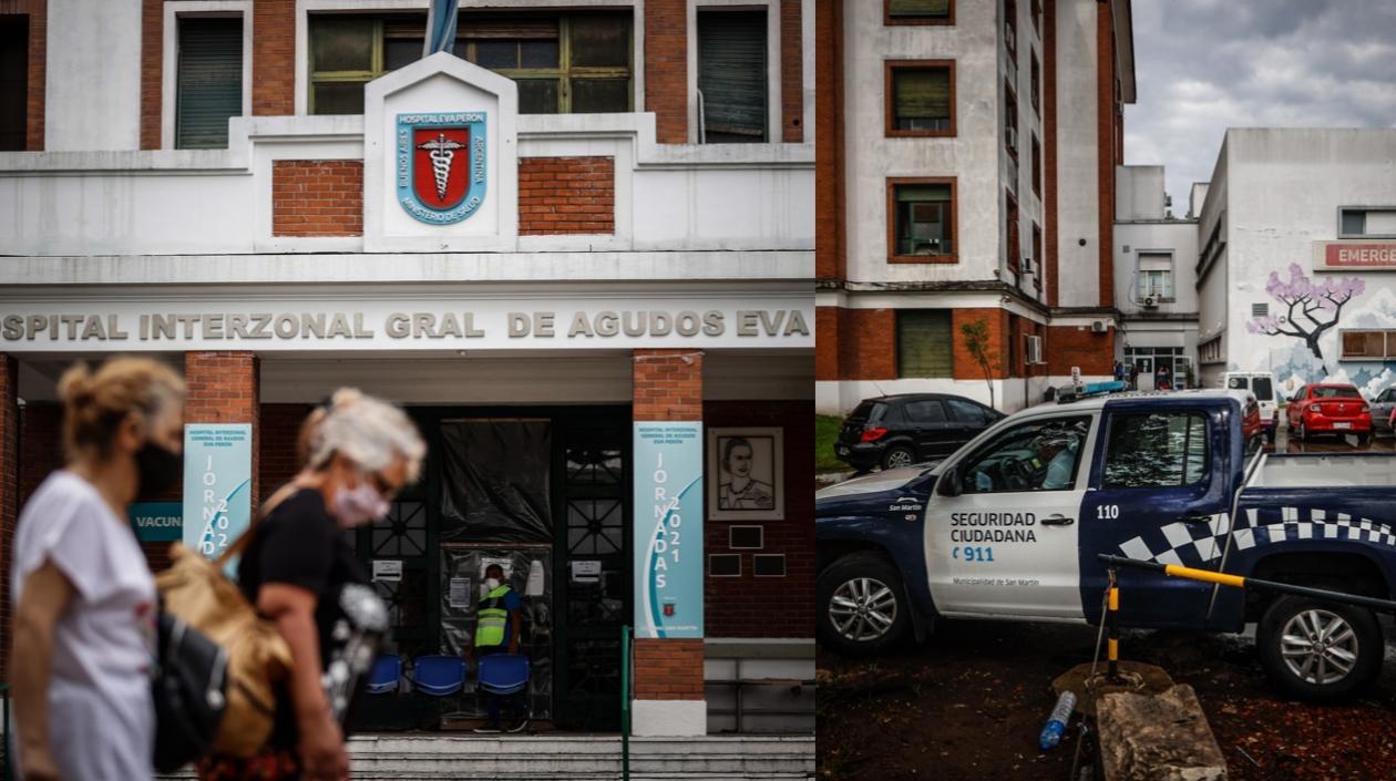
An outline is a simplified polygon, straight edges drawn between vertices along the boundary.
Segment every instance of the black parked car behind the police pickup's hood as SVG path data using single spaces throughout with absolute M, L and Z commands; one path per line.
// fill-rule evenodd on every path
M 833 455 L 859 471 L 938 460 L 1004 413 L 948 393 L 900 393 L 861 402 L 843 421 Z

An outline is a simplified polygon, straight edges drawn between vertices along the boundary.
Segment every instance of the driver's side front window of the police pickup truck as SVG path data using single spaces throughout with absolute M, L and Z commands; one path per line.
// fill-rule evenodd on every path
M 1090 418 L 1061 417 L 1015 425 L 994 437 L 959 470 L 965 494 L 1071 491 Z

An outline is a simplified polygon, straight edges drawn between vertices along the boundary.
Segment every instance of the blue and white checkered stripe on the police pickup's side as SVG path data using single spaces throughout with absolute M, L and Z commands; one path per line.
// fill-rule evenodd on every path
M 1255 508 L 1247 508 L 1235 526 L 1235 549 L 1295 540 L 1354 540 L 1396 548 L 1396 533 L 1381 522 L 1353 517 L 1349 513 L 1329 515 L 1322 509 L 1280 508 L 1279 523 L 1263 523 Z M 1226 537 L 1231 531 L 1230 513 L 1212 516 L 1208 523 L 1174 522 L 1120 544 L 1120 552 L 1139 561 L 1196 566 L 1222 556 Z

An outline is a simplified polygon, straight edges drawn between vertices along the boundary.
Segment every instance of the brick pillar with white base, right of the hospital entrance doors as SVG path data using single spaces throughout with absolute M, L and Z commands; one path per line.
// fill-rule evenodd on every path
M 637 423 L 702 420 L 702 353 L 635 350 L 632 357 L 631 396 Z M 701 530 L 695 534 L 702 537 Z M 642 543 L 637 540 L 635 544 Z M 637 572 L 635 577 L 638 580 L 642 573 Z M 706 735 L 702 643 L 701 637 L 635 639 L 635 735 Z

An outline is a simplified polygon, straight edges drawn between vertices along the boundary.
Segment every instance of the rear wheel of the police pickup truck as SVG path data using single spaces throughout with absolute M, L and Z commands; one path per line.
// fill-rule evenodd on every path
M 1309 702 L 1351 695 L 1381 672 L 1386 653 L 1372 611 L 1291 596 L 1265 611 L 1255 643 L 1270 681 Z

